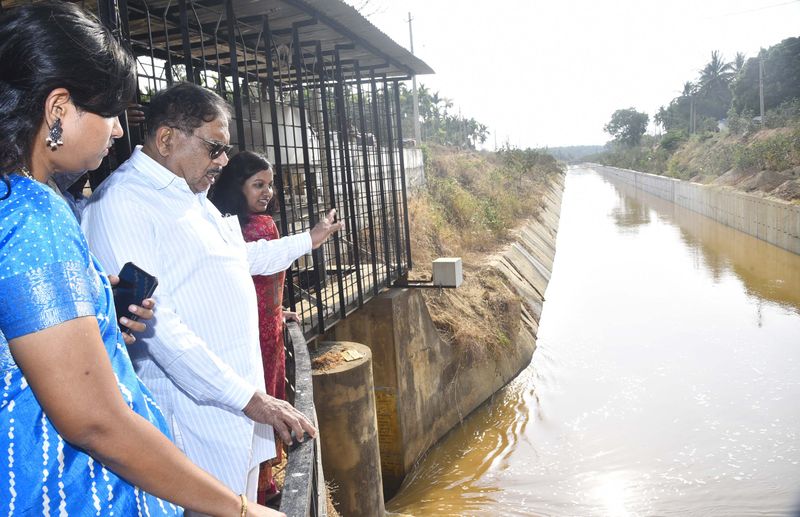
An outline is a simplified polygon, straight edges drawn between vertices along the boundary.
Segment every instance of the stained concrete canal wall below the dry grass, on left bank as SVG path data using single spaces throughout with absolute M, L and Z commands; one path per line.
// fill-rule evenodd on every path
M 518 335 L 502 354 L 476 359 L 455 349 L 439 336 L 425 299 L 415 289 L 390 289 L 377 296 L 328 336 L 363 343 L 372 351 L 387 499 L 428 448 L 530 363 L 555 258 L 563 188 L 563 176 L 553 178 L 539 216 L 518 229 L 513 242 L 489 261 L 508 279 L 520 302 Z

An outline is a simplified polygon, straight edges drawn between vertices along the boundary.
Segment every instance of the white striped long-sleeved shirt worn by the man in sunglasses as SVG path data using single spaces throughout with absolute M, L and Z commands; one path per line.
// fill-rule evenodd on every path
M 308 232 L 245 243 L 236 216 L 137 147 L 83 212 L 89 247 L 109 273 L 133 262 L 158 278 L 155 316 L 130 347 L 176 444 L 234 492 L 275 456 L 274 435 L 242 409 L 264 391 L 251 275 L 311 250 Z

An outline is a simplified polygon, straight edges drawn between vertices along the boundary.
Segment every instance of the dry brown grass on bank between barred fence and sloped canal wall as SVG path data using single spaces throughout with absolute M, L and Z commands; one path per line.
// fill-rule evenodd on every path
M 460 288 L 423 293 L 442 337 L 481 357 L 512 346 L 521 324 L 519 297 L 488 259 L 537 215 L 547 178 L 561 169 L 542 155 L 441 147 L 429 155 L 427 192 L 409 201 L 413 276 L 429 278 L 437 257 L 462 258 Z

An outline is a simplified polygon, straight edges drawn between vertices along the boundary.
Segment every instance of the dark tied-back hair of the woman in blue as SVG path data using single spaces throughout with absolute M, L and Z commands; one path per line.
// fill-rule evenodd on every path
M 111 32 L 74 4 L 37 3 L 3 13 L 0 173 L 6 184 L 7 173 L 30 164 L 50 92 L 66 88 L 77 108 L 116 117 L 136 92 L 135 72 L 133 57 Z

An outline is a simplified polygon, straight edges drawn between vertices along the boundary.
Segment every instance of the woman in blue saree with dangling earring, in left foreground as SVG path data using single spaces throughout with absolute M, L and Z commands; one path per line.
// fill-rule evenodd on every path
M 134 91 L 130 55 L 76 6 L 0 18 L 0 515 L 278 515 L 172 444 L 108 279 L 44 184 L 99 166 Z

